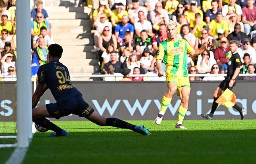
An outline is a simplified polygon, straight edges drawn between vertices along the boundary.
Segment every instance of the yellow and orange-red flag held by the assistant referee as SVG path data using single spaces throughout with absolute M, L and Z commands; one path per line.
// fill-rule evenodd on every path
M 226 89 L 216 102 L 227 108 L 231 108 L 236 104 L 236 95 L 230 89 Z

